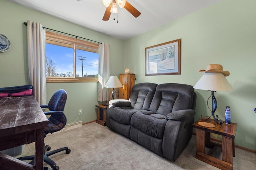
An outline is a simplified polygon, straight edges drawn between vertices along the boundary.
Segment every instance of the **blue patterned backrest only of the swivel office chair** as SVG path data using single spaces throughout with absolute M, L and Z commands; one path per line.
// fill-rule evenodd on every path
M 51 97 L 48 103 L 50 111 L 64 111 L 67 100 L 67 92 L 63 89 L 57 90 Z

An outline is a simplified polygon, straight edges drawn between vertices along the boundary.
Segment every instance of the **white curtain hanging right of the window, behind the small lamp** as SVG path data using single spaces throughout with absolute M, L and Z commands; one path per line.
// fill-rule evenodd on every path
M 108 43 L 99 44 L 99 83 L 98 101 L 109 101 L 110 93 L 108 88 L 104 88 L 109 79 L 109 45 Z

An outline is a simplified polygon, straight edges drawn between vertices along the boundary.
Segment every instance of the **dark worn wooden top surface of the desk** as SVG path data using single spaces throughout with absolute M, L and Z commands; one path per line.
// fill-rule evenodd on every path
M 34 96 L 0 98 L 0 137 L 48 126 L 48 119 Z

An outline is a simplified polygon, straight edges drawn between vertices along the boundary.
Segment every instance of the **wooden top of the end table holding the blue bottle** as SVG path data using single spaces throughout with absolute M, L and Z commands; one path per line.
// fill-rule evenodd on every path
M 207 123 L 212 123 L 212 124 L 215 125 L 215 127 L 213 127 L 213 128 L 202 127 L 202 126 L 198 125 L 198 122 L 200 122 L 200 121 L 207 122 Z M 235 138 L 237 123 L 226 124 L 225 122 L 222 121 L 221 125 L 217 125 L 217 123 L 214 121 L 214 119 L 207 119 L 207 120 L 199 119 L 198 121 L 196 121 L 193 124 L 193 127 L 197 128 L 197 129 L 207 131 L 207 132 L 210 132 L 210 133 L 215 133 L 215 134 L 218 134 L 218 135 Z

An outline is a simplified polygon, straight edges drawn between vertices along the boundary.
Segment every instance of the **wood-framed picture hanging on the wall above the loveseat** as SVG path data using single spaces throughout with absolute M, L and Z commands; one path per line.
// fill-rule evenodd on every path
M 180 74 L 180 41 L 145 48 L 145 75 Z

